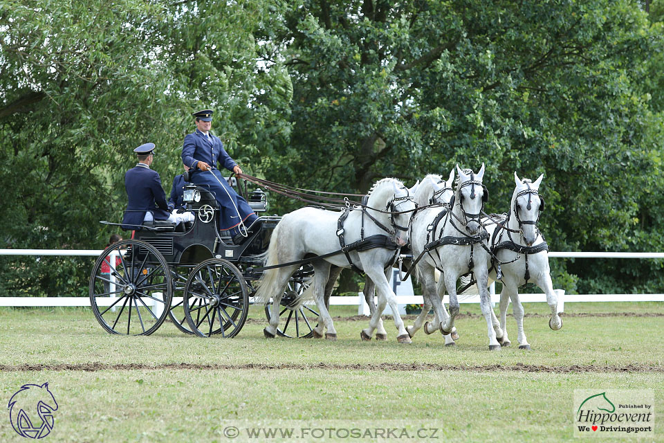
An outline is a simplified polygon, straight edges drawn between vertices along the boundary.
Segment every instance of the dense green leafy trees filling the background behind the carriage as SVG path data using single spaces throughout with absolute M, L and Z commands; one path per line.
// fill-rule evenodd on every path
M 102 248 L 131 149 L 156 143 L 168 192 L 212 107 L 260 177 L 365 192 L 483 161 L 492 212 L 545 174 L 553 251 L 662 251 L 664 5 L 580 3 L 3 0 L 0 247 Z M 551 262 L 568 292 L 664 284 L 662 260 Z M 0 293 L 83 293 L 88 268 L 0 257 Z

